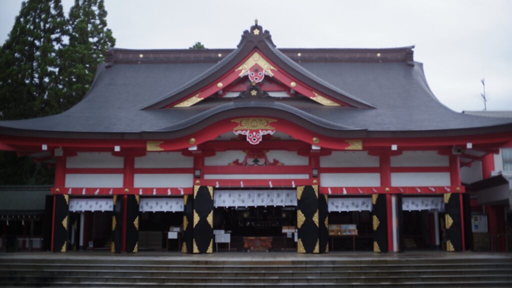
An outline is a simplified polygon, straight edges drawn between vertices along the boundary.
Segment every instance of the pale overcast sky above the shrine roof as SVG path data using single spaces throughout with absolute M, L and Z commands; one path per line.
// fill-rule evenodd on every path
M 22 1 L 2 2 L 5 42 Z M 63 0 L 65 12 L 73 0 Z M 148 1 L 106 0 L 119 48 L 235 48 L 254 18 L 278 48 L 415 45 L 414 59 L 455 111 L 512 110 L 512 1 Z

